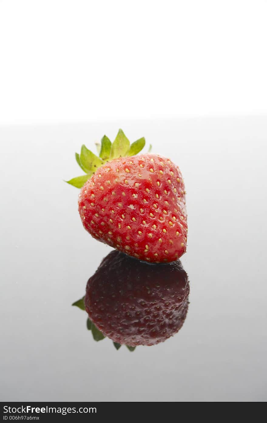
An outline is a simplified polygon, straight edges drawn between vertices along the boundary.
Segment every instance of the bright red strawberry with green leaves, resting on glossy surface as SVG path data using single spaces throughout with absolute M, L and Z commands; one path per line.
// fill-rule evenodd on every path
M 94 238 L 140 260 L 175 261 L 187 243 L 184 181 L 170 159 L 135 155 L 144 143 L 129 146 L 120 129 L 112 145 L 102 138 L 100 157 L 83 146 L 76 159 L 87 174 L 69 183 L 82 186 L 80 217 Z

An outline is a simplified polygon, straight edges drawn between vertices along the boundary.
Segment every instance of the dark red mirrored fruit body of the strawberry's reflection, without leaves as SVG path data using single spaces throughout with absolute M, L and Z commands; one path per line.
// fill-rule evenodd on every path
M 112 251 L 87 283 L 85 309 L 114 342 L 154 345 L 181 329 L 188 277 L 180 261 L 148 264 Z

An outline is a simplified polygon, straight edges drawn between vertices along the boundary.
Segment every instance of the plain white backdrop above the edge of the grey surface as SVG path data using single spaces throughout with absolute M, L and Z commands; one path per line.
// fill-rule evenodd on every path
M 266 0 L 0 0 L 0 123 L 267 113 Z

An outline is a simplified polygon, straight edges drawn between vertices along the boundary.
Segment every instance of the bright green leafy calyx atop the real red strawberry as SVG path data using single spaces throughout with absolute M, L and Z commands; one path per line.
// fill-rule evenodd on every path
M 142 137 L 130 144 L 123 130 L 119 129 L 113 143 L 104 135 L 101 145 L 97 144 L 99 157 L 92 153 L 91 150 L 88 150 L 83 144 L 80 154 L 75 153 L 75 158 L 80 168 L 85 172 L 85 175 L 77 176 L 66 182 L 74 187 L 81 188 L 91 178 L 93 173 L 106 162 L 118 159 L 119 157 L 135 156 L 135 154 L 138 154 L 144 148 L 145 143 L 145 138 Z

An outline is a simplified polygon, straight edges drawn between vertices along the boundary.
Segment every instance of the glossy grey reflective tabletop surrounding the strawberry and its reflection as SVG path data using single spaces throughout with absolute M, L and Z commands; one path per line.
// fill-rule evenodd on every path
M 63 182 L 82 174 L 82 143 L 119 127 L 178 164 L 187 190 L 187 319 L 132 353 L 96 343 L 71 306 L 111 248 Z M 2 401 L 266 401 L 266 116 L 3 126 L 0 145 Z

